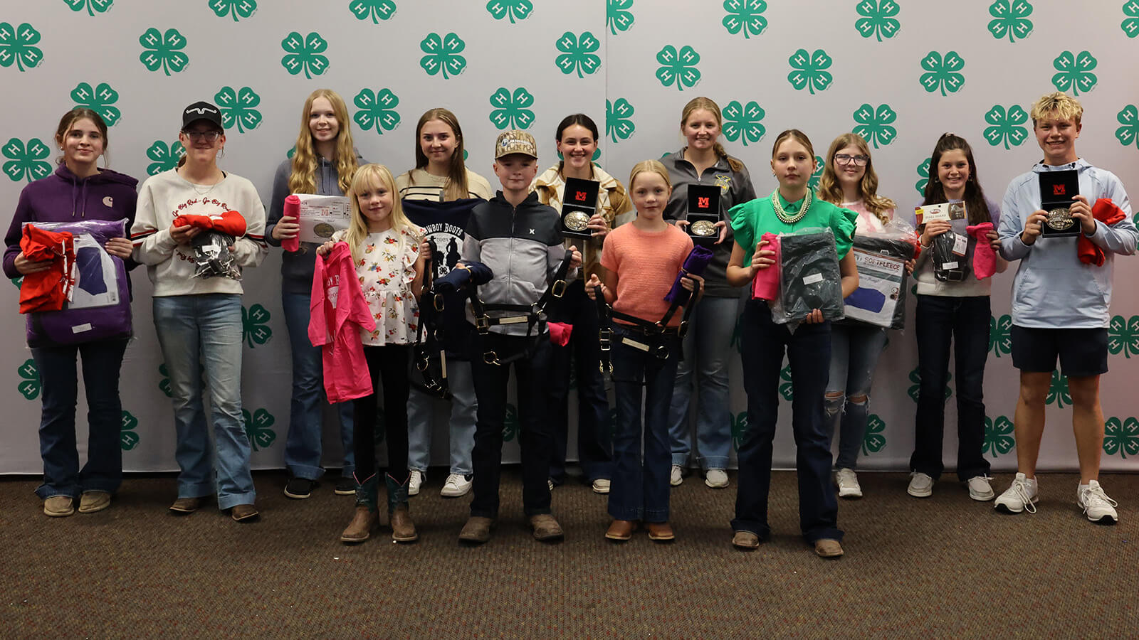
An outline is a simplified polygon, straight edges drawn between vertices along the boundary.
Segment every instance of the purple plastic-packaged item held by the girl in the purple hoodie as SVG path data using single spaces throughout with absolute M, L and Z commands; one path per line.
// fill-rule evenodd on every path
M 26 317 L 27 345 L 83 344 L 131 336 L 131 295 L 122 259 L 104 248 L 110 238 L 126 237 L 126 219 L 36 222 L 48 231 L 75 238 L 75 286 L 59 311 Z

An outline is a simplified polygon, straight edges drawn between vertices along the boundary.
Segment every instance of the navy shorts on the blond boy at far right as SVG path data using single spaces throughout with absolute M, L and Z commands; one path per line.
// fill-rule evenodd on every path
M 1107 329 L 1034 329 L 1013 325 L 1013 366 L 1022 371 L 1052 371 L 1072 377 L 1107 372 Z

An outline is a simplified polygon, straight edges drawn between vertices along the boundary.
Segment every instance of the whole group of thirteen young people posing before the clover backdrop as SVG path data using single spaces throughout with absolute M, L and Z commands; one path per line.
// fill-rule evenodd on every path
M 985 198 L 972 149 L 962 138 L 941 136 L 931 157 L 921 204 L 959 200 L 968 218 L 961 224 L 990 227 L 965 235 L 948 221 L 917 225 L 913 240 L 921 251 L 906 264 L 917 280 L 921 378 L 908 492 L 931 495 L 943 470 L 943 389 L 952 344 L 958 476 L 975 500 L 995 498 L 998 510 L 1034 510 L 1044 396 L 1058 358 L 1074 403 L 1081 469 L 1077 503 L 1093 522 L 1115 522 L 1115 502 L 1098 484 L 1104 434 L 1098 379 L 1107 370 L 1113 256 L 1134 253 L 1139 233 L 1118 179 L 1075 153 L 1082 126 L 1079 102 L 1063 93 L 1044 96 L 1034 105 L 1032 118 L 1044 158 L 1013 181 L 1000 206 Z M 354 322 L 346 335 L 358 344 L 349 346 L 359 348 L 367 364 L 363 389 L 351 403 L 336 407 L 345 452 L 336 493 L 355 495 L 352 520 L 341 534 L 344 542 L 371 535 L 380 484 L 386 485 L 393 539 L 418 538 L 408 499 L 419 492 L 425 477 L 431 417 L 435 403 L 442 402 L 428 388 L 412 389 L 413 353 L 424 335 L 421 307 L 434 305 L 437 311 L 429 329 L 436 331 L 445 360 L 443 376 L 451 400 L 450 475 L 442 493 L 458 497 L 473 490 L 470 517 L 459 533 L 468 543 L 486 542 L 499 516 L 511 366 L 517 378 L 524 511 L 534 538 L 563 538 L 550 494 L 565 478 L 572 362 L 577 377 L 579 457 L 592 489 L 608 493 L 613 522 L 606 538 L 629 540 L 644 526 L 653 540 L 673 540 L 669 487 L 683 481 L 689 465 L 694 378 L 696 444 L 705 483 L 728 485 L 727 336 L 741 314 L 747 430 L 738 450 L 732 544 L 755 549 L 770 535 L 768 491 L 786 355 L 795 384 L 792 428 L 801 530 L 816 553 L 836 558 L 843 555 L 836 495 L 861 497 L 857 458 L 886 329 L 852 320 L 831 322 L 814 309 L 792 330 L 773 315 L 769 300 L 745 300 L 740 288 L 765 278 L 767 270 L 785 266 L 775 246 L 769 246 L 771 235 L 822 228 L 834 238 L 837 286 L 844 297 L 850 295 L 859 287 L 854 238 L 893 224 L 896 205 L 877 194 L 869 148 L 853 133 L 830 145 L 818 191 L 812 190 L 809 182 L 818 169 L 814 150 L 810 139 L 794 129 L 780 133 L 772 148 L 777 189 L 756 197 L 746 167 L 719 142 L 721 125 L 714 101 L 690 101 L 680 122 L 686 146 L 661 161 L 638 163 L 628 191 L 592 164 L 598 130 L 588 116 L 574 114 L 558 125 L 555 140 L 564 159 L 541 175 L 533 137 L 507 131 L 495 141 L 493 171 L 501 188 L 492 190 L 466 169 L 462 131 L 451 112 L 436 108 L 423 115 L 416 128 L 416 167 L 395 177 L 359 156 L 343 99 L 318 90 L 304 104 L 295 154 L 278 167 L 267 221 L 252 183 L 218 167 L 226 136 L 215 106 L 196 102 L 185 109 L 180 140 L 186 156 L 177 169 L 142 184 L 137 208 L 125 192 L 133 194 L 133 180 L 96 166 L 106 150 L 106 125 L 98 114 L 77 109 L 64 116 L 57 131 L 64 151 L 59 169 L 22 194 L 6 238 L 5 271 L 16 277 L 47 269 L 21 251 L 25 223 L 77 214 L 130 220 L 133 247 L 115 239 L 106 251 L 129 269 L 146 264 L 154 284 L 154 321 L 171 378 L 181 468 L 171 511 L 192 512 L 216 494 L 221 509 L 247 522 L 257 511 L 249 443 L 240 418 L 241 285 L 232 278 L 195 277 L 195 247 L 205 229 L 180 216 L 216 219 L 238 212 L 245 229 L 233 233 L 228 249 L 238 265 L 253 266 L 264 257 L 267 244 L 297 241 L 298 220 L 285 215 L 289 195 L 347 196 L 349 228 L 321 245 L 300 243 L 284 253 L 281 262 L 281 301 L 293 355 L 285 448 L 289 498 L 308 498 L 323 473 L 320 434 L 328 380 L 321 348 L 313 345 L 320 344 L 326 330 L 331 339 L 339 329 L 310 326 L 310 314 L 319 305 L 327 302 L 335 307 L 336 327 Z M 1079 174 L 1080 195 L 1068 207 L 1080 225 L 1079 239 L 1041 235 L 1049 212 L 1041 210 L 1038 177 L 1059 170 Z M 570 179 L 599 183 L 588 237 L 567 238 L 562 232 L 559 210 Z M 694 252 L 693 237 L 686 232 L 688 190 L 695 186 L 714 186 L 720 192 L 718 238 L 703 274 L 688 270 L 688 260 L 702 251 Z M 75 213 L 65 212 L 59 197 L 68 189 Z M 104 197 L 112 189 L 117 189 L 115 198 Z M 978 251 L 997 254 L 995 272 L 1019 261 L 1013 286 L 1013 358 L 1021 369 L 1015 418 L 1018 473 L 1000 497 L 981 456 L 990 279 L 969 270 L 945 277 L 944 265 L 931 257 L 935 253 L 931 247 L 945 233 L 961 236 L 965 262 Z M 784 255 L 787 260 L 796 259 Z M 443 282 L 454 295 L 443 295 Z M 445 306 L 436 302 L 442 300 Z M 30 327 L 31 321 L 30 317 Z M 97 410 L 91 402 L 92 456 L 87 467 L 77 468 L 74 366 L 81 353 L 85 374 L 89 364 L 103 362 L 117 380 L 125 344 L 126 336 L 117 336 L 80 345 L 31 345 L 43 377 L 44 482 L 38 494 L 48 515 L 69 515 L 76 494 L 80 511 L 106 508 L 121 482 L 118 448 L 97 446 L 117 438 L 117 384 L 114 393 L 103 394 L 107 407 Z M 199 370 L 205 372 L 213 412 L 213 456 Z M 616 399 L 612 441 L 606 371 L 612 372 Z M 96 377 L 85 376 L 89 397 L 93 385 L 107 381 Z M 377 420 L 379 393 L 383 421 Z M 328 397 L 342 400 L 334 395 L 339 394 L 329 392 Z M 388 457 L 384 483 L 375 452 L 379 424 Z M 836 432 L 837 460 L 831 454 Z

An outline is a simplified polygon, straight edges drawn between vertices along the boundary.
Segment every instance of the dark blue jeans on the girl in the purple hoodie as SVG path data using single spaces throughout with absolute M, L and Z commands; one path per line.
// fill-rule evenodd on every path
M 118 430 L 123 405 L 118 400 L 118 370 L 125 351 L 125 338 L 32 347 L 43 399 L 40 415 L 43 484 L 35 490 L 41 499 L 76 498 L 84 491 L 114 493 L 122 484 L 123 450 L 118 444 Z M 82 469 L 75 448 L 76 355 L 83 360 L 83 388 L 87 391 L 88 446 Z

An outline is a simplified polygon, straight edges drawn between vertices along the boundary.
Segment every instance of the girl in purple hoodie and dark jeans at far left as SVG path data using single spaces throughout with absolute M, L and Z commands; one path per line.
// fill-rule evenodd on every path
M 63 151 L 55 173 L 32 182 L 19 195 L 16 215 L 5 236 L 3 271 L 18 278 L 49 268 L 50 261 L 33 262 L 19 248 L 25 222 L 73 222 L 80 220 L 123 220 L 126 229 L 134 221 L 138 180 L 99 169 L 99 156 L 107 150 L 107 124 L 96 112 L 79 108 L 67 112 L 56 130 L 56 145 Z M 128 270 L 131 241 L 110 238 L 107 253 L 122 259 Z M 40 336 L 30 343 L 43 393 L 40 419 L 40 454 L 43 458 L 43 484 L 35 493 L 43 500 L 48 516 L 90 514 L 106 509 L 123 477 L 123 452 L 118 430 L 122 403 L 118 399 L 118 370 L 130 338 L 124 335 L 81 344 L 59 345 Z M 82 354 L 83 385 L 88 402 L 88 461 L 79 468 L 75 448 L 75 403 L 79 381 L 76 355 Z

